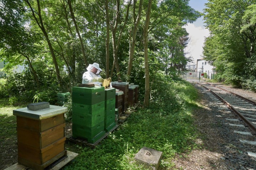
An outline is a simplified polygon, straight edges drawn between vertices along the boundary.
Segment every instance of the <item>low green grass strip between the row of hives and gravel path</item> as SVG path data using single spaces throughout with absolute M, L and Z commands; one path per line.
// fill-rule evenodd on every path
M 161 169 L 174 166 L 172 159 L 177 153 L 189 152 L 197 146 L 198 137 L 193 126 L 192 112 L 199 109 L 197 91 L 186 82 L 172 84 L 171 91 L 176 93 L 181 107 L 177 111 L 166 111 L 164 105 L 151 103 L 149 108 L 139 108 L 133 112 L 118 130 L 105 138 L 95 149 L 77 145 L 67 145 L 70 151 L 79 153 L 75 161 L 65 170 L 82 169 L 146 169 L 134 161 L 135 154 L 142 147 L 163 152 Z M 163 100 L 164 101 L 164 100 Z M 166 101 L 166 104 L 175 103 Z M 167 106 L 166 106 L 167 107 Z

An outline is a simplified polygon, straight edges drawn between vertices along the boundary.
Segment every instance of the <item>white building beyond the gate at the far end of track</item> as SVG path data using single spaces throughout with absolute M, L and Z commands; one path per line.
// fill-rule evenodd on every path
M 196 71 L 207 73 L 208 78 L 211 79 L 212 75 L 214 74 L 214 67 L 208 61 L 198 59 Z

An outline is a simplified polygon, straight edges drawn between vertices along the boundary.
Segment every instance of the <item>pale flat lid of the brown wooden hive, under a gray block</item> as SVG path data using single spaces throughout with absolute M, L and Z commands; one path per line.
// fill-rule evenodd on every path
M 44 108 L 37 111 L 32 111 L 27 107 L 24 107 L 20 109 L 15 109 L 12 112 L 13 115 L 19 117 L 41 120 L 65 113 L 66 111 L 68 111 L 68 108 L 66 107 L 50 105 L 49 108 Z

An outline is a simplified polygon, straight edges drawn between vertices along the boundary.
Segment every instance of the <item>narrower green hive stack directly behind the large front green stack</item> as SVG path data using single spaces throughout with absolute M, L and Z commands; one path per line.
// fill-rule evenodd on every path
M 105 89 L 105 125 L 104 129 L 109 132 L 116 126 L 116 89 Z

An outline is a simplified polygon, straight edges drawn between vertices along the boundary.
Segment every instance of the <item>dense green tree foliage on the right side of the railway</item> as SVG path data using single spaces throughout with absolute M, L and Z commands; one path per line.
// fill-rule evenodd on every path
M 253 89 L 249 86 L 256 77 L 255 2 L 209 0 L 206 7 L 204 19 L 211 35 L 206 38 L 203 55 L 216 67 L 217 80 Z

